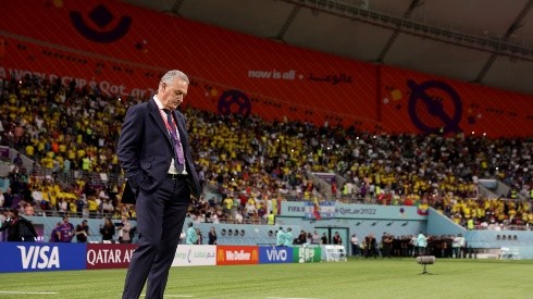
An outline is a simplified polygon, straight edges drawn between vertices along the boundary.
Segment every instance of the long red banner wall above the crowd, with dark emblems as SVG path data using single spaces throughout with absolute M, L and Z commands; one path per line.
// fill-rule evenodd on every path
M 161 74 L 193 79 L 186 104 L 372 133 L 533 135 L 533 97 L 259 39 L 117 1 L 7 1 L 0 78 L 60 78 L 149 97 Z

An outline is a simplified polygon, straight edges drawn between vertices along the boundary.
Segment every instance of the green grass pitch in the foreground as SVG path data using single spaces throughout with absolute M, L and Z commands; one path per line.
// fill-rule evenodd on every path
M 172 267 L 165 298 L 533 298 L 531 260 L 437 259 L 426 269 L 414 259 Z M 0 299 L 120 298 L 125 273 L 3 273 Z

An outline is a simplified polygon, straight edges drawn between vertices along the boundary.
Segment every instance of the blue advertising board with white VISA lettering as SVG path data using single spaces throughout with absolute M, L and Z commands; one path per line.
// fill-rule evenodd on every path
M 0 272 L 85 270 L 85 244 L 0 242 Z

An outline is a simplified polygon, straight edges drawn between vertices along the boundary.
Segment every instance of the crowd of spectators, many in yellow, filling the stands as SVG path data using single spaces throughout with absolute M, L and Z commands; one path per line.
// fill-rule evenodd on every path
M 120 219 L 135 207 L 120 203 L 120 182 L 95 185 L 83 175 L 120 176 L 116 140 L 125 112 L 145 99 L 110 98 L 97 88 L 63 86 L 38 77 L 0 82 L 0 137 L 35 163 L 13 160 L 11 192 L 25 214 L 53 210 Z M 197 221 L 264 221 L 280 200 L 336 200 L 434 207 L 457 223 L 533 224 L 533 140 L 360 132 L 356 127 L 221 115 L 186 105 L 190 145 L 201 183 L 216 198 L 197 200 Z M 16 159 L 16 158 L 15 158 Z M 10 161 L 11 162 L 11 161 Z M 309 173 L 346 179 L 331 190 Z M 481 198 L 480 178 L 497 178 L 508 195 Z M 221 198 L 221 199 L 219 199 Z M 85 210 L 84 210 L 85 209 Z

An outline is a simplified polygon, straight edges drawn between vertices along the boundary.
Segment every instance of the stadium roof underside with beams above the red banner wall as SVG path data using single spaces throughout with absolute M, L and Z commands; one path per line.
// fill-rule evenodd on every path
M 533 0 L 122 0 L 339 57 L 533 95 Z

